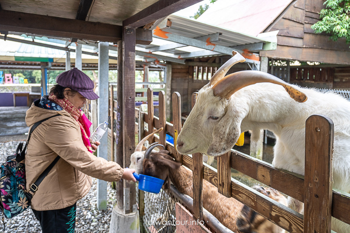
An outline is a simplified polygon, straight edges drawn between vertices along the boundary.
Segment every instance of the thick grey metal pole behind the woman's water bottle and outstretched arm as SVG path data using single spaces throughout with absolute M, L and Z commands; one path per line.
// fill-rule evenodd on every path
M 98 43 L 98 124 L 108 119 L 108 42 Z M 97 156 L 107 159 L 107 134 L 100 140 L 100 146 L 97 149 Z M 97 209 L 107 209 L 107 182 L 98 180 L 97 182 Z

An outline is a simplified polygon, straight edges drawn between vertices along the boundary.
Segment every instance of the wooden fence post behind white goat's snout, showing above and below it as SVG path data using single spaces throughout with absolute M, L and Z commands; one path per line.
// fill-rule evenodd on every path
M 193 106 L 196 103 L 198 92 L 192 94 L 191 102 Z M 203 154 L 194 153 L 193 158 L 193 215 L 195 218 L 203 221 Z

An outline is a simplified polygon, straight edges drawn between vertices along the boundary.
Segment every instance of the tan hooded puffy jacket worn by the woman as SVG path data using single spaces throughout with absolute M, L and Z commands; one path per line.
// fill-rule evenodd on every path
M 27 190 L 59 155 L 61 158 L 44 178 L 31 201 L 34 210 L 62 209 L 83 198 L 91 188 L 91 177 L 119 181 L 124 173 L 118 163 L 98 158 L 87 151 L 79 124 L 65 110 L 36 107 L 26 112 L 26 123 L 41 123 L 31 134 L 26 154 Z

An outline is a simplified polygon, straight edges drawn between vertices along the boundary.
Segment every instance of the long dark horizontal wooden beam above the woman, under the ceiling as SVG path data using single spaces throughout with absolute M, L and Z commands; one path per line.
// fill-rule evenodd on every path
M 69 27 L 67 27 L 69 25 Z M 117 43 L 122 37 L 122 27 L 118 25 L 87 22 L 60 17 L 37 15 L 10 10 L 1 10 L 0 28 L 57 37 L 91 39 Z

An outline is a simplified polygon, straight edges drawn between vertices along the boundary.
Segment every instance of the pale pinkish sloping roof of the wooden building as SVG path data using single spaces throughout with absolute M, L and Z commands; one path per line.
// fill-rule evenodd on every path
M 197 20 L 256 36 L 290 2 L 292 0 L 217 0 Z

